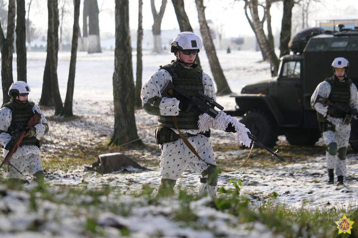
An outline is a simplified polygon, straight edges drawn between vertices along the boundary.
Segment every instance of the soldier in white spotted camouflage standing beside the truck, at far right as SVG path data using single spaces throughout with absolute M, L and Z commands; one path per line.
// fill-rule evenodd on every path
M 350 136 L 349 110 L 357 111 L 357 87 L 348 79 L 349 62 L 343 57 L 333 60 L 333 77 L 319 83 L 311 97 L 311 106 L 317 111 L 317 118 L 323 138 L 328 146 L 326 164 L 328 168 L 328 184 L 334 183 L 334 168 L 338 176 L 337 184 L 342 185 L 347 174 L 347 147 Z M 326 101 L 337 103 L 348 110 L 326 105 Z

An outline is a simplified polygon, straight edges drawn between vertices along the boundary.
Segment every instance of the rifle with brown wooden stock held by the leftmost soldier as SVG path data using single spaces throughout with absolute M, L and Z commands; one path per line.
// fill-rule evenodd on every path
M 35 115 L 30 118 L 26 126 L 35 126 L 40 122 L 40 120 L 41 114 L 35 111 Z M 4 160 L 1 162 L 0 168 L 3 166 L 3 164 L 7 164 L 10 161 L 11 157 L 14 155 L 17 148 L 20 146 L 21 141 L 23 140 L 28 131 L 28 129 L 23 129 L 21 124 L 18 125 L 13 137 L 11 137 L 11 140 L 5 145 L 5 149 L 9 152 L 5 156 Z

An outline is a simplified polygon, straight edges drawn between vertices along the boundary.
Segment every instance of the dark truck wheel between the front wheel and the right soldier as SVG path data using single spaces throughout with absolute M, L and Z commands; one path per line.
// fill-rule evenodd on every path
M 318 129 L 294 129 L 285 133 L 287 141 L 291 145 L 313 146 L 321 137 Z

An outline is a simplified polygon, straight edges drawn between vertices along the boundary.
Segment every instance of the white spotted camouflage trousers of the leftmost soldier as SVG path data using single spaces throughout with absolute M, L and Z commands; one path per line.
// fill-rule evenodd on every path
M 15 168 L 17 169 L 15 169 Z M 29 154 L 20 157 L 12 157 L 8 164 L 7 178 L 21 178 L 26 169 L 30 174 L 43 170 L 39 155 Z M 20 172 L 19 172 L 20 171 Z

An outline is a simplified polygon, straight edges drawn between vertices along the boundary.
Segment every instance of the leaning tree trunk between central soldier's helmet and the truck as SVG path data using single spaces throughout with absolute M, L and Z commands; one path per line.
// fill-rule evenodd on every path
M 200 32 L 203 37 L 205 52 L 206 55 L 208 56 L 211 72 L 213 73 L 214 80 L 218 87 L 217 94 L 224 95 L 224 94 L 231 93 L 230 87 L 221 69 L 218 56 L 216 55 L 213 40 L 211 39 L 210 36 L 209 27 L 205 19 L 205 7 L 203 5 L 203 0 L 195 0 L 195 4 L 198 10 Z

